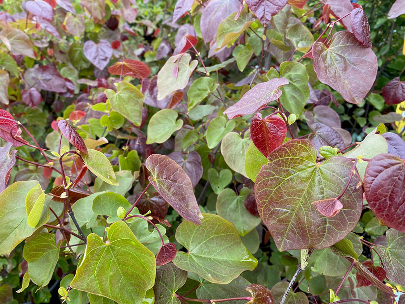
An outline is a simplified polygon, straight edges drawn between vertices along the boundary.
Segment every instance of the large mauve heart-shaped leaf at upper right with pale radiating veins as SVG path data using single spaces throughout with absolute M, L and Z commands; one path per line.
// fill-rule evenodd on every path
M 329 48 L 317 42 L 312 48 L 318 79 L 352 104 L 360 104 L 377 75 L 377 56 L 348 31 L 333 35 Z

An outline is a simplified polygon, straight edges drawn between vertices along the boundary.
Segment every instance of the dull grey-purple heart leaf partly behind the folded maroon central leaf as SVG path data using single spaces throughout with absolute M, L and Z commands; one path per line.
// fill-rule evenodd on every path
M 183 168 L 191 180 L 192 187 L 195 188 L 204 171 L 201 164 L 201 156 L 196 151 L 192 151 L 187 154 L 183 154 L 180 151 L 175 151 L 167 156 Z

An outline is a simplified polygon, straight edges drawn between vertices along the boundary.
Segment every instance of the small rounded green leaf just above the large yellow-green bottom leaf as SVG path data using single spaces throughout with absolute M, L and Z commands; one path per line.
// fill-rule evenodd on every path
M 118 193 L 106 192 L 94 198 L 92 209 L 95 214 L 108 216 L 107 222 L 112 223 L 121 220 L 117 215 L 117 210 L 120 207 L 129 210 L 132 205 L 124 196 Z M 134 208 L 132 214 L 139 214 L 136 211 L 137 209 Z

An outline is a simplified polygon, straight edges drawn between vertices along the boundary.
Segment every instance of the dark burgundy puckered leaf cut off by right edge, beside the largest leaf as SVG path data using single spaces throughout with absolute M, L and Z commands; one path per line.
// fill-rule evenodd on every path
M 364 174 L 364 193 L 378 221 L 405 232 L 405 165 L 395 155 L 374 157 Z

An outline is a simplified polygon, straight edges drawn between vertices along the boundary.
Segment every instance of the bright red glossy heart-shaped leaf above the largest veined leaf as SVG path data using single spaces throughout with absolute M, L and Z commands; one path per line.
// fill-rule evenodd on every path
M 252 117 L 250 125 L 250 138 L 256 148 L 264 156 L 278 148 L 284 141 L 287 134 L 287 127 L 284 120 L 276 115 L 269 115 L 262 118 L 262 114 L 256 112 Z

